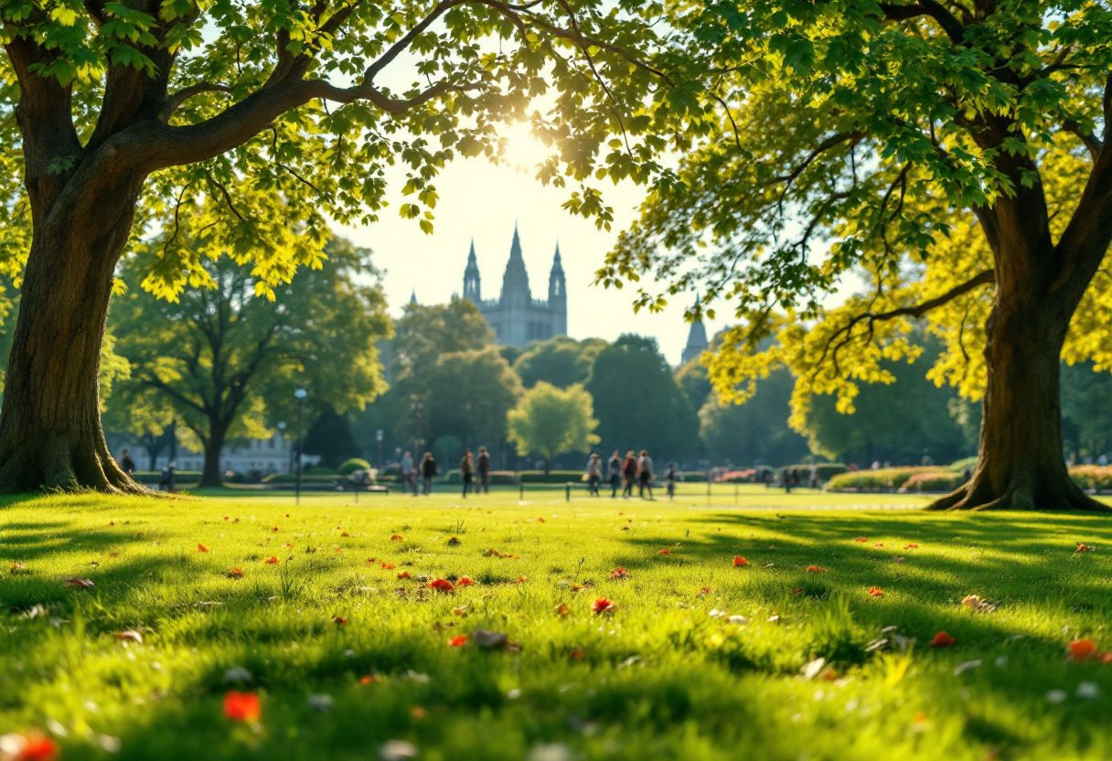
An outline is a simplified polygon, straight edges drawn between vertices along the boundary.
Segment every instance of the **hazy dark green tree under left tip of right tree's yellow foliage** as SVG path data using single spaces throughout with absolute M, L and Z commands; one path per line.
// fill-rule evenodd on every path
M 787 424 L 791 373 L 781 367 L 761 381 L 745 404 L 719 403 L 712 394 L 699 408 L 699 436 L 716 462 L 738 466 L 792 465 L 811 451 Z

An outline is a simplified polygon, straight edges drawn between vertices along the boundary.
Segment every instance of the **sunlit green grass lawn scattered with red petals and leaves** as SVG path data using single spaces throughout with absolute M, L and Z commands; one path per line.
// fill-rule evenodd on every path
M 687 490 L 7 498 L 0 733 L 63 761 L 1112 757 L 1112 666 L 1068 655 L 1112 650 L 1106 517 Z

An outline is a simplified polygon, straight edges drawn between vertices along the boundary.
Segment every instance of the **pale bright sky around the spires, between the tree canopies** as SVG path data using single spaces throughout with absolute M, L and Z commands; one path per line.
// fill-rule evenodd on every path
M 510 128 L 508 135 L 508 152 L 516 161 L 533 166 L 542 158 L 544 147 L 525 128 Z M 567 278 L 570 337 L 613 340 L 623 333 L 638 333 L 656 338 L 668 362 L 679 363 L 691 327 L 684 322 L 684 309 L 694 295 L 672 302 L 663 313 L 642 310 L 635 315 L 633 288 L 616 290 L 592 285 L 595 270 L 618 233 L 635 218 L 644 188 L 632 182 L 607 184 L 603 199 L 614 207 L 614 224 L 610 231 L 605 231 L 598 230 L 594 220 L 572 216 L 560 208 L 572 192 L 570 187 L 545 187 L 533 178 L 532 171 L 494 166 L 485 158 L 457 160 L 435 181 L 439 194 L 434 210 L 435 231 L 426 235 L 416 220 L 398 216 L 397 209 L 406 200 L 401 196 L 404 185 L 405 171 L 398 169 L 390 177 L 390 206 L 379 213 L 379 220 L 338 230 L 357 245 L 370 248 L 376 266 L 386 270 L 384 286 L 393 315 L 401 314 L 414 290 L 421 304 L 447 302 L 454 293 L 461 293 L 473 238 L 483 297 L 496 298 L 502 290 L 516 224 L 534 298 L 547 297 L 548 270 L 559 241 Z M 706 323 L 708 336 L 726 324 L 721 316 L 727 309 L 722 305 L 717 308 L 719 318 Z

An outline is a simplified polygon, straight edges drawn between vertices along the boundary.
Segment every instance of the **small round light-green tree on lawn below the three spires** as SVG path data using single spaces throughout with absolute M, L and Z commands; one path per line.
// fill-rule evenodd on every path
M 545 473 L 553 457 L 563 452 L 590 452 L 598 443 L 598 427 L 590 394 L 583 386 L 557 388 L 540 381 L 522 396 L 509 412 L 509 441 L 522 454 L 538 452 L 545 458 Z

